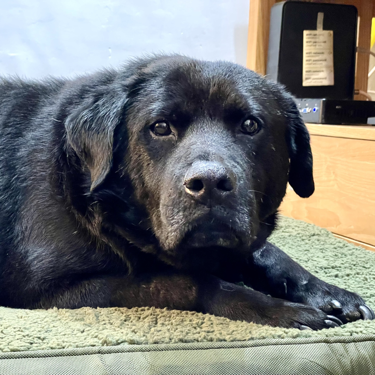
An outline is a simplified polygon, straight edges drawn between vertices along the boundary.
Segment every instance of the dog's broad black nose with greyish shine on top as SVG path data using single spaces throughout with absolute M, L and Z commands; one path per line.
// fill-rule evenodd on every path
M 235 185 L 234 173 L 217 162 L 194 162 L 184 178 L 186 192 L 195 199 L 222 197 Z

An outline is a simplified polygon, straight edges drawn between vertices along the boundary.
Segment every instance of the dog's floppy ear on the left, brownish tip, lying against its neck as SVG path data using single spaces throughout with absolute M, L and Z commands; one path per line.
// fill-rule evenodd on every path
M 65 121 L 68 143 L 90 170 L 90 191 L 104 181 L 112 166 L 114 129 L 126 102 L 121 94 L 107 92 L 87 99 Z

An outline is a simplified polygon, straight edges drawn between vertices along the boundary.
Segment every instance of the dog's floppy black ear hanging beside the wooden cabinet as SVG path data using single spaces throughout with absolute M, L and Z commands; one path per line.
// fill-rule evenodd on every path
M 289 123 L 286 141 L 290 159 L 289 183 L 300 197 L 308 198 L 315 190 L 310 135 L 293 98 L 287 95 L 287 101 Z

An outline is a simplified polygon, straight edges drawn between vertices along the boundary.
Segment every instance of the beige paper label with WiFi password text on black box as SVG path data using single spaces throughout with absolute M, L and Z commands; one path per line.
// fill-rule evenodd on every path
M 318 27 L 319 21 L 318 19 Z M 303 30 L 302 69 L 302 86 L 333 86 L 335 84 L 332 30 Z

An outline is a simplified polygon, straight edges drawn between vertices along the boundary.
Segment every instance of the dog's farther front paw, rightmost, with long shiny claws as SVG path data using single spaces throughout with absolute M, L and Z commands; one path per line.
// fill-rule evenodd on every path
M 374 311 L 362 297 L 345 289 L 315 279 L 298 293 L 298 302 L 314 306 L 327 315 L 338 318 L 343 324 L 355 320 L 375 319 Z

